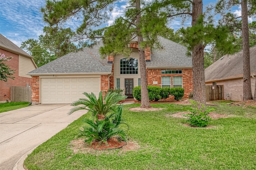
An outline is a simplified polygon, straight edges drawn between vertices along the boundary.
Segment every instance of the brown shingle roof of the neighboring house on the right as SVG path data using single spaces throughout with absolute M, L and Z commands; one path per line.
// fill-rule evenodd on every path
M 250 48 L 251 75 L 256 72 L 256 46 Z M 243 76 L 243 51 L 233 55 L 224 55 L 218 61 L 207 67 L 204 71 L 205 81 L 240 78 Z

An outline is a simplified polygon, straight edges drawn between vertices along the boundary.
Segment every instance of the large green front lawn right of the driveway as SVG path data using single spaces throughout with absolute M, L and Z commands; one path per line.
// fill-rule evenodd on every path
M 216 104 L 216 113 L 239 117 L 213 120 L 212 129 L 191 128 L 182 125 L 183 118 L 166 116 L 190 106 L 152 104 L 164 109 L 134 112 L 128 109 L 139 104 L 126 105 L 128 137 L 139 150 L 74 154 L 70 141 L 76 139 L 81 120 L 91 115 L 86 114 L 36 148 L 24 164 L 29 170 L 255 170 L 256 108 Z

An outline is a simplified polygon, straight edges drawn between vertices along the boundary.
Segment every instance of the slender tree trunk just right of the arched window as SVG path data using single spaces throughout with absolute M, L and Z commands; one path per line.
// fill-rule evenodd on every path
M 138 37 L 138 51 L 139 51 L 139 61 L 140 61 L 140 79 L 141 79 L 141 106 L 140 107 L 151 107 L 148 98 L 148 80 L 147 80 L 147 69 L 145 61 L 145 51 L 140 48 L 140 43 L 143 41 L 143 37 L 140 32 L 140 0 L 135 2 L 136 10 L 138 12 L 136 16 L 137 26 L 137 37 Z

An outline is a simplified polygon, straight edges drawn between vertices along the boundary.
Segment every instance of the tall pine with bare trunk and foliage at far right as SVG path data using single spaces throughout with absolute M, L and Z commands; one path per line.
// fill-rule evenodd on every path
M 235 16 L 231 12 L 226 12 L 232 6 L 241 5 L 242 15 Z M 223 17 L 220 20 L 226 25 L 232 26 L 235 30 L 242 30 L 242 49 L 243 49 L 243 100 L 252 99 L 251 81 L 250 81 L 250 39 L 248 16 L 256 15 L 256 1 L 255 0 L 219 0 L 217 2 L 216 12 Z M 238 20 L 240 19 L 241 20 Z

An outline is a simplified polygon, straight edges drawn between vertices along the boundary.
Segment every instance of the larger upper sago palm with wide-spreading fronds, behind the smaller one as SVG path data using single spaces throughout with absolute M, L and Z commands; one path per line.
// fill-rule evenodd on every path
M 84 92 L 83 93 L 87 98 L 80 98 L 79 100 L 73 102 L 71 106 L 77 106 L 70 110 L 68 114 L 74 113 L 75 111 L 86 109 L 92 112 L 94 117 L 104 118 L 104 116 L 110 112 L 114 111 L 116 104 L 127 98 L 127 96 L 122 96 L 119 93 L 108 92 L 106 93 L 104 100 L 102 91 L 99 93 L 98 99 L 95 94 L 92 92 L 91 94 Z M 84 105 L 84 106 L 78 106 Z

